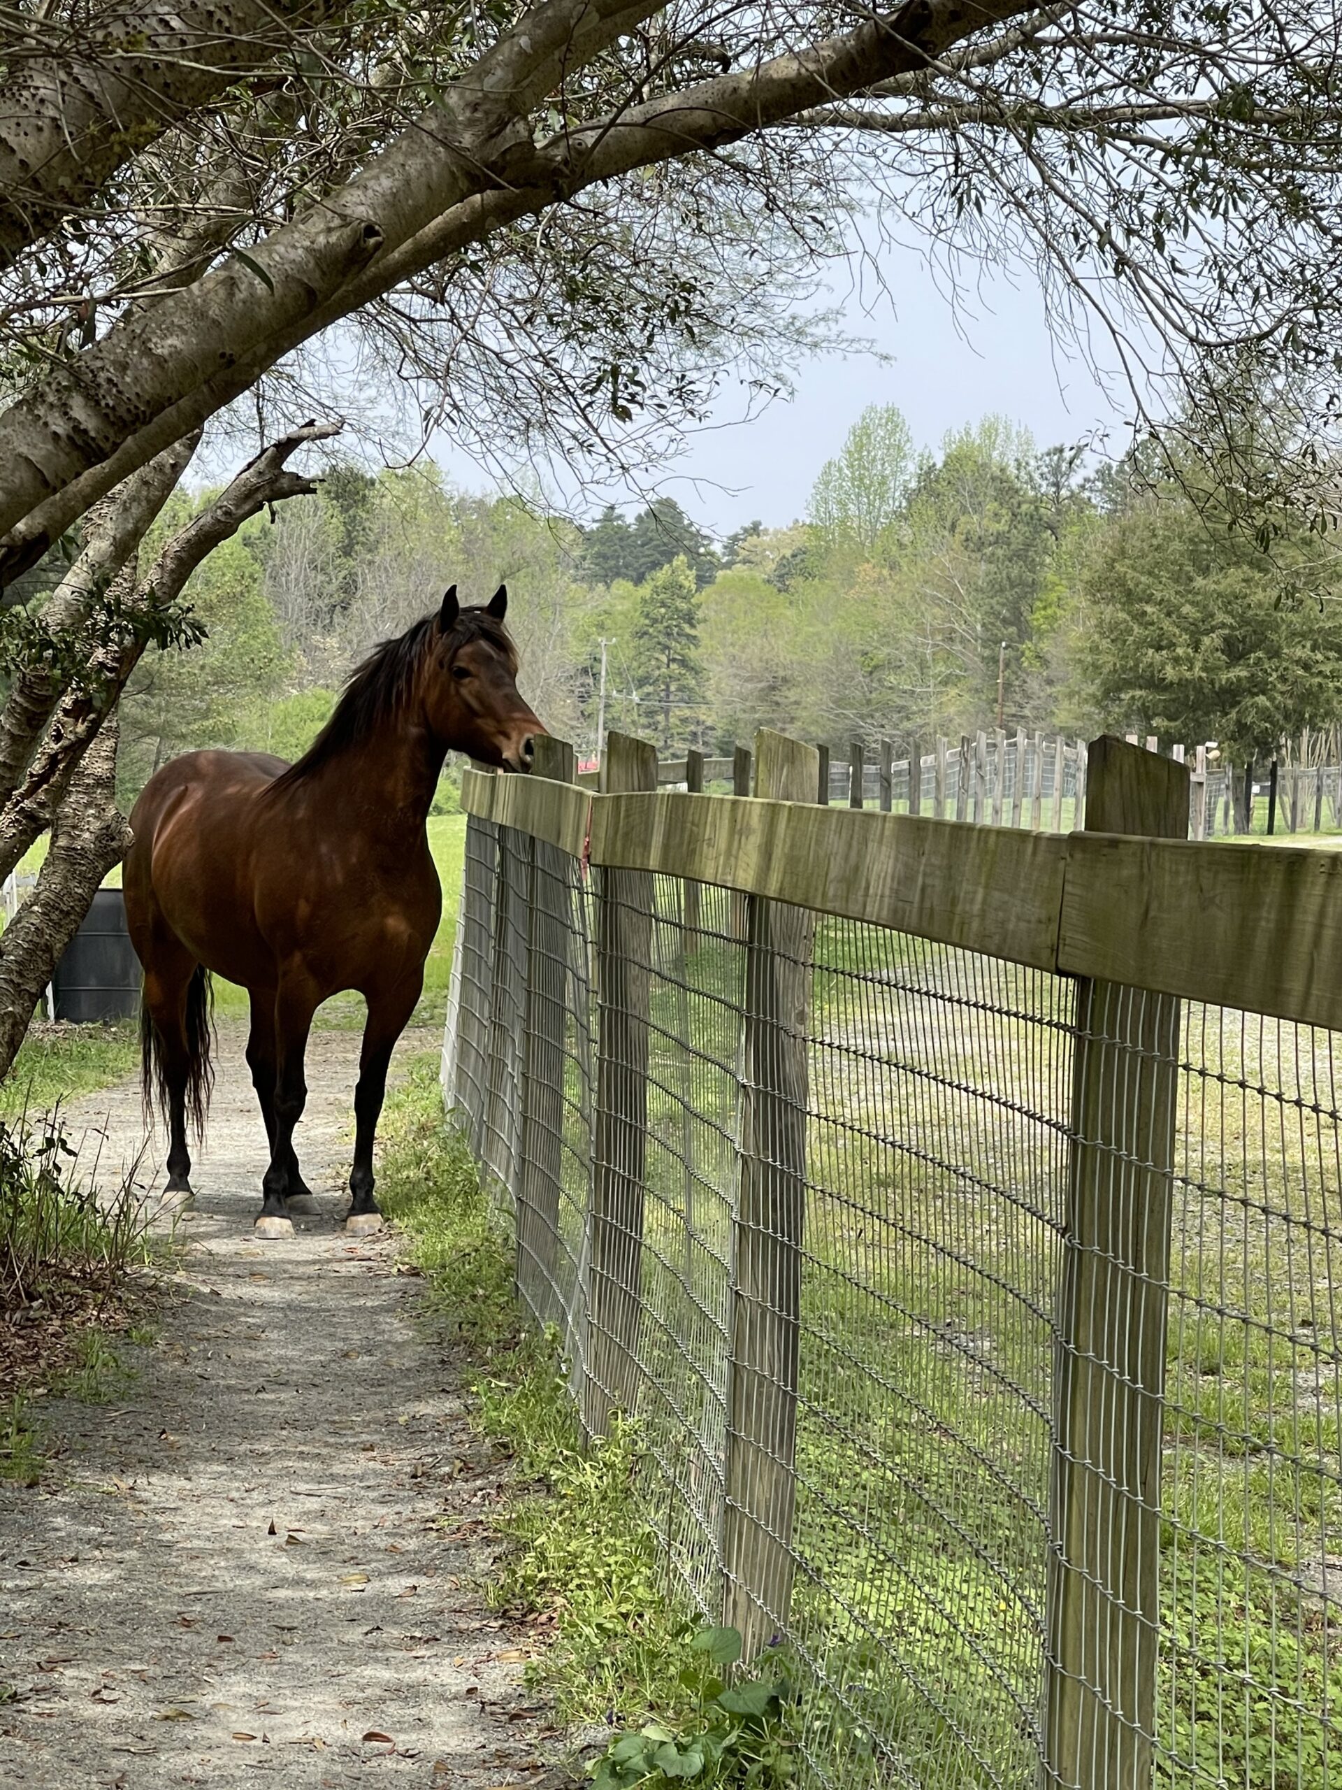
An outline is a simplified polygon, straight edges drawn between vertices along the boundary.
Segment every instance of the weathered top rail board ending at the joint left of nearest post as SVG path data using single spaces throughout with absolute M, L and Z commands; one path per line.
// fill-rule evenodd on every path
M 798 802 L 628 795 L 592 863 L 694 877 L 1052 970 L 1066 841 Z

